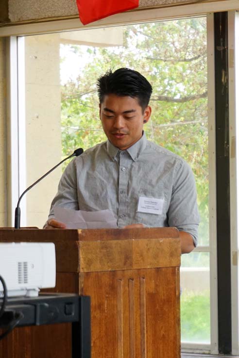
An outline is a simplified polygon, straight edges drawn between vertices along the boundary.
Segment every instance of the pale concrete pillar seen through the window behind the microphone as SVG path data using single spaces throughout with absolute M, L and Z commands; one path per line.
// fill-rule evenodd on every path
M 27 186 L 61 160 L 59 33 L 25 37 Z M 27 226 L 42 228 L 61 167 L 27 194 Z

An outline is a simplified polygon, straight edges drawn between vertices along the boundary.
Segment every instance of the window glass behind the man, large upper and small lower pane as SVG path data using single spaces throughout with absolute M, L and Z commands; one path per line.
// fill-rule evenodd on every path
M 74 149 L 106 139 L 97 78 L 110 68 L 135 69 L 154 89 L 146 135 L 191 165 L 201 215 L 199 244 L 208 245 L 206 56 L 205 17 L 27 36 L 27 184 Z M 28 226 L 44 224 L 65 166 L 27 194 Z M 181 277 L 182 340 L 209 342 L 209 254 L 184 255 Z

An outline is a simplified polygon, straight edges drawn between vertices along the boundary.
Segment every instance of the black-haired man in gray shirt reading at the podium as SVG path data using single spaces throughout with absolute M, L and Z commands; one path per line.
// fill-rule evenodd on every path
M 108 140 L 68 164 L 44 228 L 66 228 L 54 219 L 55 206 L 109 209 L 119 228 L 176 227 L 182 253 L 196 246 L 199 214 L 191 168 L 148 141 L 143 131 L 151 94 L 149 81 L 128 68 L 98 79 L 100 119 Z

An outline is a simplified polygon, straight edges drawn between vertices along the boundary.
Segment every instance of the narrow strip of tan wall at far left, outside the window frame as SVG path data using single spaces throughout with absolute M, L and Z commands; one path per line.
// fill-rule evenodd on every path
M 5 39 L 0 38 L 0 226 L 6 226 L 6 77 Z

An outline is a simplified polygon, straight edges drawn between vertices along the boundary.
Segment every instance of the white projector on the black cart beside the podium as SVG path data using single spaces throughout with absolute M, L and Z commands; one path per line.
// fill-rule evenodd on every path
M 0 243 L 0 276 L 8 297 L 34 297 L 40 288 L 55 287 L 55 271 L 53 243 Z

